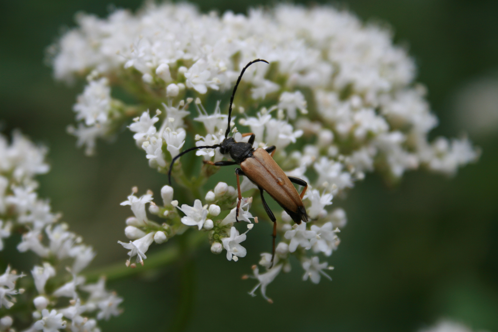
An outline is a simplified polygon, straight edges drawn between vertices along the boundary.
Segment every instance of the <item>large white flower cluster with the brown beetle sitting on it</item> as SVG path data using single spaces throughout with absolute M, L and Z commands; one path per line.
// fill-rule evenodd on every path
M 289 254 L 301 261 L 304 280 L 317 283 L 321 276 L 330 278 L 324 272 L 331 268 L 328 263 L 306 252 L 330 256 L 337 248 L 337 232 L 345 225 L 346 214 L 330 208 L 332 198 L 352 188 L 367 172 L 379 171 L 389 180 L 419 166 L 454 174 L 459 166 L 479 157 L 479 150 L 465 137 L 427 140 L 438 121 L 425 101 L 424 88 L 414 83 L 412 59 L 392 44 L 390 31 L 364 24 L 346 11 L 280 4 L 270 10 L 251 9 L 247 16 L 230 11 L 218 16 L 201 14 L 185 3 L 148 3 L 136 14 L 127 10 L 116 10 L 108 18 L 80 14 L 77 22 L 79 26 L 56 45 L 59 51 L 53 67 L 55 77 L 66 81 L 90 73 L 91 82 L 74 108 L 80 127 L 118 128 L 118 122 L 134 116 L 129 129 L 150 166 L 171 171 L 179 185 L 197 192 L 216 172 L 213 166 L 204 165 L 194 180 L 187 179 L 180 163 L 171 170 L 168 167 L 185 147 L 187 135 L 196 140 L 196 146 L 212 146 L 224 139 L 227 114 L 222 114 L 220 103 L 215 111 L 206 111 L 200 98 L 231 88 L 249 61 L 269 62 L 256 63 L 246 71 L 236 96 L 235 110 L 241 117 L 236 121 L 233 114 L 233 125 L 246 126 L 245 131 L 255 134 L 254 148 L 276 146 L 273 157 L 286 174 L 308 182 L 303 202 L 312 222 L 291 225 L 286 213 L 278 217 L 281 242 L 274 264 L 268 258 L 271 254 L 264 253 L 260 265 L 267 271 L 253 269 L 259 281 L 255 289 L 260 286 L 267 300 L 268 283 L 280 271 L 290 270 Z M 109 102 L 110 78 L 143 102 L 138 107 Z M 186 98 L 187 93 L 199 96 L 194 97 L 198 116 L 193 120 L 204 125 L 200 133 L 187 130 L 193 127 L 187 108 L 194 101 Z M 266 107 L 254 110 L 251 105 L 258 99 L 264 99 Z M 119 107 L 109 107 L 113 103 Z M 161 110 L 151 117 L 144 111 L 148 108 Z M 246 109 L 255 116 L 246 115 Z M 112 110 L 120 116 L 110 117 Z M 89 139 L 83 131 L 73 133 L 78 144 L 93 149 L 95 135 Z M 236 141 L 249 139 L 236 127 L 232 133 Z M 205 161 L 229 158 L 219 148 L 198 149 L 196 154 Z M 244 178 L 242 192 L 252 188 L 255 185 Z M 167 186 L 163 190 L 173 193 Z M 179 207 L 172 198 L 157 206 L 151 200 L 151 194 L 131 195 L 123 203 L 131 205 L 135 215 L 125 230 L 134 241 L 121 242 L 130 250 L 130 258 L 136 255 L 143 264 L 156 236 L 156 242 L 164 241 L 185 225 L 208 232 L 211 250 L 225 249 L 229 260 L 246 255 L 240 243 L 247 231 L 241 234 L 233 226 L 234 188 L 220 183 L 204 202 L 195 200 L 192 206 Z M 146 203 L 150 203 L 149 212 L 166 219 L 162 225 L 148 221 Z M 250 229 L 252 197 L 241 203 L 239 219 L 249 222 Z M 180 218 L 173 207 L 185 216 Z

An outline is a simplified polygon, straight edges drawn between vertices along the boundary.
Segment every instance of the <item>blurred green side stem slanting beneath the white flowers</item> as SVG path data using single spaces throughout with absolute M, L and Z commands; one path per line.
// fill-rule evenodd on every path
M 190 251 L 194 251 L 202 243 L 205 242 L 206 236 L 199 231 L 186 231 L 182 235 L 178 235 L 178 242 L 183 239 Z M 180 240 L 182 239 L 182 240 Z M 124 262 L 119 262 L 110 266 L 91 270 L 85 274 L 87 281 L 97 281 L 101 276 L 106 276 L 107 280 L 119 280 L 128 276 L 139 274 L 145 271 L 153 270 L 158 267 L 168 266 L 176 262 L 181 257 L 181 249 L 178 243 L 165 243 L 165 248 L 147 255 L 144 265 L 134 269 L 126 267 Z

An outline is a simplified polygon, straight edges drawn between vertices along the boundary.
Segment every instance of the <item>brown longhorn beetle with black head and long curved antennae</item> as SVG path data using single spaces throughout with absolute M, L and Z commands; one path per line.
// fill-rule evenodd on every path
M 248 177 L 249 180 L 257 186 L 261 194 L 261 202 L 263 203 L 264 210 L 266 211 L 266 214 L 268 215 L 270 220 L 273 221 L 273 247 L 271 252 L 271 266 L 273 266 L 273 259 L 275 257 L 275 238 L 277 232 L 277 223 L 273 212 L 271 212 L 270 208 L 266 204 L 266 201 L 264 200 L 263 191 L 266 191 L 284 209 L 284 211 L 289 214 L 289 216 L 295 223 L 300 224 L 301 221 L 308 221 L 308 215 L 306 214 L 306 209 L 304 208 L 303 204 L 303 196 L 306 192 L 306 189 L 308 188 L 308 184 L 306 183 L 306 181 L 303 181 L 301 179 L 285 175 L 280 166 L 278 166 L 278 164 L 272 158 L 273 153 L 275 153 L 276 149 L 274 145 L 267 147 L 266 149 L 254 149 L 252 147 L 252 144 L 254 143 L 255 135 L 251 132 L 242 135 L 242 137 L 250 135 L 249 141 L 247 143 L 236 142 L 234 137 L 228 137 L 228 134 L 231 130 L 230 121 L 232 117 L 232 104 L 234 103 L 234 97 L 237 91 L 237 87 L 239 86 L 242 75 L 244 75 L 246 69 L 253 63 L 259 61 L 268 63 L 266 60 L 262 59 L 256 59 L 249 62 L 246 67 L 242 69 L 242 72 L 237 79 L 234 91 L 232 92 L 232 97 L 230 98 L 230 107 L 228 109 L 228 126 L 227 130 L 225 131 L 225 139 L 221 142 L 221 144 L 210 146 L 196 146 L 178 154 L 171 161 L 171 165 L 169 166 L 168 171 L 168 179 L 169 184 L 171 184 L 171 169 L 173 168 L 173 164 L 176 159 L 180 158 L 187 152 L 197 149 L 214 149 L 219 147 L 222 154 L 230 154 L 233 161 L 212 162 L 204 160 L 204 163 L 214 166 L 241 165 L 241 168 L 235 169 L 235 174 L 237 176 L 237 190 L 239 192 L 239 200 L 237 202 L 237 210 L 235 215 L 235 220 L 237 222 L 239 222 L 239 209 L 242 201 L 241 183 L 239 180 L 239 176 Z M 294 188 L 292 183 L 304 187 L 301 194 L 298 194 L 296 188 Z

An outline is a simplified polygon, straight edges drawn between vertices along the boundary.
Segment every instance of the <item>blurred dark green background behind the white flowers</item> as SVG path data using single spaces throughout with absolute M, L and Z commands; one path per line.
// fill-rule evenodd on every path
M 112 3 L 134 10 L 140 2 Z M 271 3 L 196 2 L 203 11 L 220 12 Z M 466 128 L 454 102 L 468 84 L 498 77 L 498 1 L 349 0 L 335 5 L 392 26 L 396 43 L 409 46 L 418 81 L 428 87 L 428 100 L 440 118 L 432 137 L 470 130 L 483 148 L 481 160 L 453 179 L 409 172 L 395 188 L 370 174 L 347 200 L 335 198 L 349 221 L 339 250 L 329 259 L 336 268 L 333 281 L 302 282 L 302 269 L 294 262 L 293 271 L 268 288 L 273 305 L 260 296 L 251 298 L 247 292 L 255 281 L 240 279 L 268 246 L 269 224 L 253 230 L 245 242 L 249 254 L 238 263 L 201 247 L 189 331 L 411 332 L 440 318 L 476 331 L 498 331 L 498 127 L 486 132 Z M 131 186 L 158 193 L 166 183 L 165 176 L 148 168 L 129 133 L 113 144 L 100 142 L 95 157 L 76 149 L 65 128 L 74 123 L 72 105 L 82 85 L 54 82 L 43 63 L 44 49 L 64 27 L 74 26 L 75 12 L 106 16 L 111 9 L 102 0 L 0 1 L 2 132 L 20 128 L 50 148 L 52 168 L 39 177 L 40 196 L 49 197 L 53 210 L 63 212 L 71 229 L 96 248 L 94 268 L 124 264 L 125 250 L 116 241 L 125 240 L 130 211 L 119 203 Z M 125 298 L 124 314 L 102 323 L 103 331 L 164 330 L 175 313 L 178 279 L 172 266 L 111 282 L 110 288 Z

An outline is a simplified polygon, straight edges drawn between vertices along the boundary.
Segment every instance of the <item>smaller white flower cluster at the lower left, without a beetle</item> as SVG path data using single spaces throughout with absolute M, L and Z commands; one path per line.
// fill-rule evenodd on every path
M 33 324 L 26 331 L 69 328 L 72 332 L 98 332 L 96 319 L 119 315 L 123 299 L 105 289 L 105 279 L 97 284 L 85 283 L 79 274 L 95 257 L 95 251 L 83 243 L 81 236 L 70 232 L 67 224 L 58 222 L 60 215 L 51 212 L 48 201 L 38 198 L 34 176 L 48 172 L 46 152 L 46 148 L 34 145 L 19 132 L 14 132 L 10 144 L 0 135 L 0 250 L 4 246 L 2 239 L 15 230 L 22 233 L 17 250 L 30 250 L 40 259 L 31 270 L 34 288 L 28 292 L 38 296 L 23 298 L 33 301 L 36 308 Z M 66 269 L 56 270 L 61 266 Z M 25 276 L 7 267 L 0 276 L 0 307 L 10 309 L 14 305 L 14 295 L 24 291 L 15 289 L 16 279 Z M 54 283 L 50 288 L 55 289 L 51 293 L 45 288 L 49 279 Z M 69 306 L 61 308 L 59 298 L 69 298 Z M 0 331 L 12 330 L 12 325 L 15 322 L 10 316 L 0 319 Z

